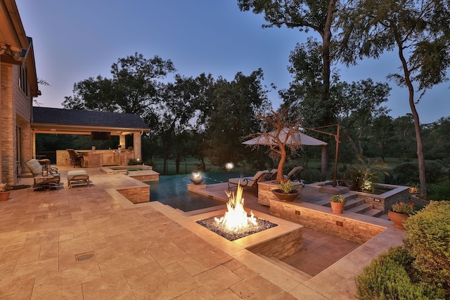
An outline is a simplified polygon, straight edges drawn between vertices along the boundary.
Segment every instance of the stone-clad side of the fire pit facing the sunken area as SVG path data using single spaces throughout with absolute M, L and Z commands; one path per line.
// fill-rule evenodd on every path
M 285 259 L 302 249 L 303 228 L 298 228 L 290 233 L 276 237 L 273 240 L 257 244 L 247 249 L 253 253 L 259 253 L 266 257 L 275 257 L 276 259 Z

